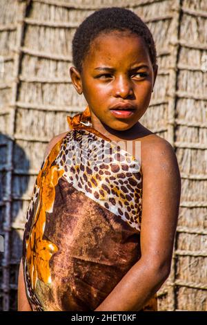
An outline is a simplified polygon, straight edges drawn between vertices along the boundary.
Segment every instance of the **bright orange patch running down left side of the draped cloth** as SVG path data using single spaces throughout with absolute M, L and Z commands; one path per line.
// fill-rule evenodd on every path
M 43 233 L 46 224 L 46 212 L 52 212 L 55 201 L 55 186 L 64 172 L 63 169 L 58 169 L 58 165 L 51 166 L 59 154 L 60 147 L 61 140 L 52 148 L 43 169 L 39 171 L 37 176 L 39 203 L 34 215 L 30 238 L 26 241 L 26 259 L 33 289 L 36 287 L 37 279 L 45 284 L 51 282 L 49 261 L 52 254 L 58 251 L 57 245 L 43 239 Z

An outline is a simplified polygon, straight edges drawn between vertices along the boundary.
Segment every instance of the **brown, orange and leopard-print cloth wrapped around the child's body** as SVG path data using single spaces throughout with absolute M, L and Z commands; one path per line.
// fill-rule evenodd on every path
M 68 124 L 41 165 L 26 216 L 32 310 L 95 310 L 141 257 L 140 160 L 92 128 L 88 106 Z M 156 295 L 141 311 L 150 310 Z

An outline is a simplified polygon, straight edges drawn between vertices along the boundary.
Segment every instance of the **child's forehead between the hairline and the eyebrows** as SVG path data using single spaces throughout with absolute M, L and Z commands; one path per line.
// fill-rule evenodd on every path
M 112 31 L 101 34 L 90 44 L 87 65 L 110 64 L 130 66 L 135 63 L 150 64 L 144 39 L 132 32 Z

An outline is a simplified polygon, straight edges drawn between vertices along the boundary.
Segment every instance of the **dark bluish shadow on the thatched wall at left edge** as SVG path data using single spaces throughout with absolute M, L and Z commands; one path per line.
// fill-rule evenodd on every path
M 0 133 L 0 236 L 1 241 L 4 241 L 4 251 L 0 250 L 0 310 L 17 310 L 21 239 L 28 208 L 28 201 L 26 197 L 23 197 L 28 190 L 29 176 L 27 174 L 30 169 L 30 160 L 23 148 L 15 142 L 13 158 L 10 158 L 11 147 L 12 139 Z M 11 187 L 9 186 L 9 165 L 13 168 Z M 11 202 L 7 201 L 10 195 Z M 6 205 L 10 209 L 6 209 Z

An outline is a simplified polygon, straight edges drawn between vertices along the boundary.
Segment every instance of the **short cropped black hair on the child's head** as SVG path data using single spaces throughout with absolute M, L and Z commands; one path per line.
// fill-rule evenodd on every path
M 112 30 L 129 30 L 142 37 L 148 47 L 148 53 L 154 67 L 157 64 L 157 52 L 152 34 L 139 16 L 126 8 L 110 7 L 93 12 L 77 28 L 72 39 L 72 61 L 81 73 L 82 63 L 90 50 L 92 41 L 101 34 Z

